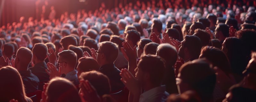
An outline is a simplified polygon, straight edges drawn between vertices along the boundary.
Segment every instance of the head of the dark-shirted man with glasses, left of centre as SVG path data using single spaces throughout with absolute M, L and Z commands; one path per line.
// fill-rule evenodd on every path
M 97 62 L 100 66 L 113 64 L 118 56 L 118 45 L 112 42 L 101 42 L 97 54 Z

